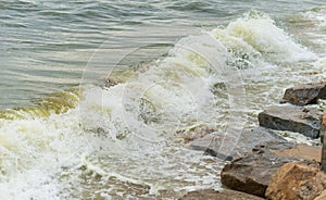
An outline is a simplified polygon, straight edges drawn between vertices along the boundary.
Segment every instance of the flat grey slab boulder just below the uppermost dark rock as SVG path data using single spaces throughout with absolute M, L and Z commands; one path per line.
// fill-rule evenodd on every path
M 323 111 L 294 105 L 273 105 L 259 114 L 261 126 L 277 130 L 290 130 L 317 138 L 322 127 Z

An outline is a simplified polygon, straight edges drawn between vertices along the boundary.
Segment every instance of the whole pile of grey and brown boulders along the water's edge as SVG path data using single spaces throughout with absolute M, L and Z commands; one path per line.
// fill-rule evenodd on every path
M 242 130 L 229 154 L 221 153 L 220 149 L 222 142 L 235 139 L 227 134 L 202 134 L 189 140 L 190 149 L 229 162 L 221 172 L 224 190 L 191 191 L 180 199 L 326 199 L 326 173 L 321 170 L 322 143 L 297 143 L 275 133 L 286 130 L 311 139 L 322 138 L 326 114 L 317 103 L 325 99 L 326 82 L 286 89 L 281 104 L 265 108 L 258 116 L 260 127 Z

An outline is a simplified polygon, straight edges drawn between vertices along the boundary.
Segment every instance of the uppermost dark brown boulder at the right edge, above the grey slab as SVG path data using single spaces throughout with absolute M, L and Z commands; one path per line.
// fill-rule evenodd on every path
M 285 91 L 281 102 L 306 105 L 316 103 L 318 99 L 326 99 L 326 82 L 289 88 Z

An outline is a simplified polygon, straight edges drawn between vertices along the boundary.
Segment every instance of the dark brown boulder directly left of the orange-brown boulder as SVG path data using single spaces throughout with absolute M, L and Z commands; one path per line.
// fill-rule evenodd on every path
M 265 197 L 272 177 L 286 163 L 302 161 L 315 163 L 302 158 L 277 157 L 276 150 L 294 148 L 293 143 L 268 141 L 253 149 L 253 152 L 226 164 L 221 173 L 224 186 L 259 197 Z

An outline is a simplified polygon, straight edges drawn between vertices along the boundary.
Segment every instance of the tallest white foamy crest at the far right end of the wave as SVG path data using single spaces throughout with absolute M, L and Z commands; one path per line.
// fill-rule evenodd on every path
M 226 47 L 239 51 L 243 58 L 258 57 L 272 62 L 297 62 L 316 59 L 316 54 L 297 43 L 275 25 L 266 14 L 252 11 L 228 24 L 225 29 L 213 30 Z

